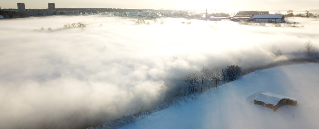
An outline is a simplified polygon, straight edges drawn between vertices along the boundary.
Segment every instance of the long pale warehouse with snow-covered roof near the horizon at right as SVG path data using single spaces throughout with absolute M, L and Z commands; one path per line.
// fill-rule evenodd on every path
M 263 22 L 263 23 L 284 23 L 285 16 L 282 14 L 265 14 L 265 15 L 254 15 L 252 17 L 254 22 Z

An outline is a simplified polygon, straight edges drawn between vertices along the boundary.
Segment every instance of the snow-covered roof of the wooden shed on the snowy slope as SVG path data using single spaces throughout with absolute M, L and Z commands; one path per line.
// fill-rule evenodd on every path
M 262 101 L 265 104 L 272 104 L 272 105 L 276 106 L 281 99 L 289 99 L 292 101 L 297 101 L 297 99 L 295 99 L 295 98 L 282 96 L 282 95 L 278 95 L 278 94 L 273 94 L 270 92 L 261 93 L 255 100 Z

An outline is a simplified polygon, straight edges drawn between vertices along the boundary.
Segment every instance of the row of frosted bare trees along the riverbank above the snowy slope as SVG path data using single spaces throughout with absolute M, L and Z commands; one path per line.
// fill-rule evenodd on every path
M 238 65 L 229 65 L 225 69 L 220 69 L 219 67 L 213 70 L 208 70 L 208 68 L 202 67 L 199 72 L 192 72 L 184 77 L 182 81 L 184 82 L 184 90 L 186 93 L 201 93 L 204 88 L 212 88 L 227 83 L 229 81 L 234 81 L 241 77 L 241 67 Z

